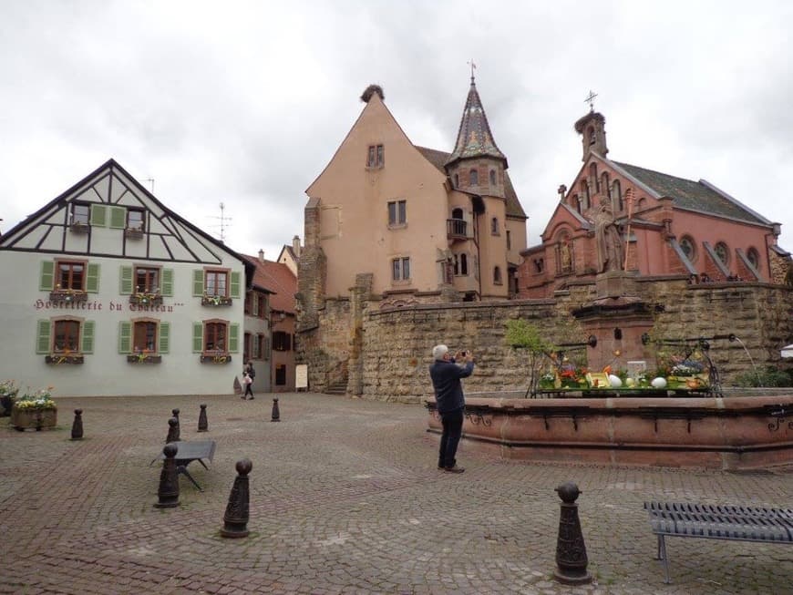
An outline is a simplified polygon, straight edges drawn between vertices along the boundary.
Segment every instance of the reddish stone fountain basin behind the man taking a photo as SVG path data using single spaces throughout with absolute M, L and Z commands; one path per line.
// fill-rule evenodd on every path
M 441 431 L 427 400 L 428 431 Z M 793 463 L 793 395 L 469 398 L 466 448 L 502 458 L 726 470 Z

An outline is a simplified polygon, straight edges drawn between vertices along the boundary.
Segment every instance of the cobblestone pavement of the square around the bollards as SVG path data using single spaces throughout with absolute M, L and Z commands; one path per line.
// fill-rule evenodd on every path
M 731 474 L 494 460 L 463 442 L 438 471 L 427 412 L 344 396 L 60 399 L 56 430 L 0 419 L 3 593 L 793 593 L 793 549 L 668 539 L 673 584 L 653 559 L 645 499 L 791 507 L 793 470 Z M 199 434 L 206 403 L 209 433 Z M 85 438 L 69 440 L 73 410 Z M 153 508 L 173 407 L 181 437 L 217 441 L 209 470 L 180 478 L 180 507 Z M 219 529 L 252 460 L 247 539 Z M 582 489 L 592 584 L 561 585 L 560 500 Z

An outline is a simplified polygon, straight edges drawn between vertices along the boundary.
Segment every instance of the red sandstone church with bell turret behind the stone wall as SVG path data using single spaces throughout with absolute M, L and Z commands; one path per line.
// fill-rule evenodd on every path
M 780 225 L 705 180 L 609 159 L 605 118 L 575 123 L 583 165 L 541 234 L 522 251 L 521 298 L 547 298 L 610 271 L 685 275 L 689 282 L 781 283 L 789 254 Z

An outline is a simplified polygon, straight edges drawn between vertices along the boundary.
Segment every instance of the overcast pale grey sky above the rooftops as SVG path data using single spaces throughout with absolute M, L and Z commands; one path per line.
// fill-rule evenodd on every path
M 451 151 L 473 59 L 529 245 L 592 89 L 609 158 L 708 180 L 793 250 L 791 23 L 787 0 L 3 0 L 0 231 L 113 158 L 216 237 L 224 203 L 226 243 L 274 260 L 364 88 Z

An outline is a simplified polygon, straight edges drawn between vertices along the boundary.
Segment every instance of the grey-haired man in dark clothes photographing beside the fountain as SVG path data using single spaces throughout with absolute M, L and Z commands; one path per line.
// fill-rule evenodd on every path
M 455 458 L 459 439 L 462 436 L 466 405 L 460 378 L 467 378 L 474 371 L 474 355 L 470 352 L 459 352 L 452 357 L 446 345 L 436 345 L 432 348 L 432 357 L 435 361 L 429 366 L 429 377 L 432 378 L 435 402 L 443 426 L 438 451 L 438 469 L 449 473 L 462 473 L 465 469 L 458 467 Z M 465 364 L 458 365 L 458 359 L 464 360 Z

